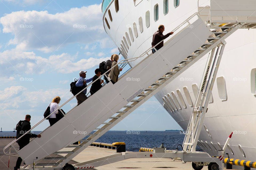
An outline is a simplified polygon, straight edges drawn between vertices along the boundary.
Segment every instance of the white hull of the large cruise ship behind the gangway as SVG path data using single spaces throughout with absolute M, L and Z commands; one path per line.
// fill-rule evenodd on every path
M 152 35 L 157 30 L 159 24 L 165 25 L 165 32 L 163 34 L 172 31 L 177 25 L 198 11 L 197 2 L 198 1 L 196 0 L 189 2 L 182 1 L 178 7 L 174 8 L 173 0 L 169 0 L 169 11 L 164 15 L 163 0 L 143 0 L 141 2 L 140 0 L 136 0 L 135 4 L 134 1 L 119 0 L 118 12 L 115 10 L 115 0 L 113 0 L 107 7 L 107 12 L 104 13 L 103 11 L 104 27 L 125 58 L 137 57 L 150 48 Z M 203 2 L 204 1 L 200 1 L 200 3 Z M 159 6 L 159 19 L 154 21 L 154 6 L 157 3 Z M 202 6 L 206 5 L 210 5 L 209 2 L 203 3 Z M 111 11 L 112 22 L 110 21 L 108 10 Z M 145 21 L 145 13 L 148 10 L 150 12 L 150 26 L 147 28 L 146 25 L 148 24 Z M 139 25 L 140 16 L 142 17 L 142 32 L 137 26 Z M 108 21 L 110 29 L 105 22 L 105 18 Z M 134 32 L 134 22 L 136 23 L 135 27 L 138 32 L 137 38 L 135 37 L 136 33 Z M 133 42 L 129 32 L 130 27 L 133 34 Z M 128 40 L 126 40 L 126 32 L 131 45 Z M 230 158 L 255 161 L 255 35 L 254 29 L 239 29 L 226 39 L 227 44 L 212 91 L 213 101 L 208 105 L 208 111 L 204 119 L 205 126 L 201 131 L 198 144 L 210 155 L 217 155 L 216 150 L 220 150 L 220 147 L 223 147 L 227 137 L 233 131 L 234 135 L 231 138 L 226 153 L 229 153 Z M 123 37 L 125 37 L 125 39 L 123 39 Z M 125 41 L 127 41 L 127 45 Z M 204 56 L 201 60 L 197 61 L 193 66 L 179 75 L 172 81 L 172 83 L 168 84 L 163 90 L 155 95 L 159 103 L 163 104 L 162 98 L 167 96 L 167 94 L 172 96 L 171 92 L 174 93 L 178 103 L 172 97 L 174 104 L 171 107 L 174 108 L 174 111 L 168 109 L 167 112 L 183 128 L 183 130 L 187 129 L 189 123 L 193 109 L 191 102 L 194 105 L 195 95 L 197 94 L 195 87 L 197 86 L 200 88 L 199 86 L 207 62 L 207 57 L 208 56 Z M 138 62 L 139 61 L 130 62 L 129 64 L 133 67 Z M 185 96 L 184 87 L 188 89 L 191 101 L 187 100 L 188 97 Z M 177 90 L 181 92 L 183 99 L 179 98 Z M 185 105 L 182 104 L 181 100 L 184 100 L 186 107 L 184 107 Z M 208 129 L 210 135 L 205 128 Z

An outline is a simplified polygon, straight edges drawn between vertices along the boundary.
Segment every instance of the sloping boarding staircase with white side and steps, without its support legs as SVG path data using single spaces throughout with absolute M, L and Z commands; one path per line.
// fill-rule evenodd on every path
M 173 32 L 197 16 L 199 16 L 198 13 L 195 13 L 175 28 Z M 193 25 L 193 27 L 181 29 L 175 36 L 166 41 L 164 46 L 156 53 L 152 54 L 152 48 L 149 48 L 139 57 L 119 62 L 118 64 L 127 63 L 143 58 L 135 67 L 122 75 L 117 83 L 112 84 L 110 82 L 106 84 L 82 104 L 67 112 L 65 117 L 56 124 L 42 131 L 40 139 L 32 139 L 27 146 L 17 151 L 17 154 L 6 153 L 6 148 L 13 145 L 15 140 L 4 148 L 4 153 L 11 156 L 21 156 L 28 164 L 27 169 L 32 168 L 33 160 L 36 157 L 38 157 L 35 160 L 36 167 L 63 167 L 193 63 L 217 45 L 222 44 L 225 38 L 238 29 L 239 24 L 210 25 L 207 27 L 203 20 L 199 18 L 192 24 L 189 23 L 189 25 Z M 193 43 L 191 43 L 192 41 Z M 137 78 L 138 81 L 131 81 L 131 78 Z M 74 97 L 63 103 L 59 108 Z M 166 105 L 165 107 L 169 106 Z M 168 109 L 174 111 L 174 108 Z M 39 121 L 31 130 L 44 120 Z M 88 137 L 83 139 L 85 136 Z M 82 143 L 70 145 L 76 141 L 82 141 Z M 70 150 L 67 148 L 70 148 Z M 49 157 L 52 153 L 66 155 L 64 157 Z M 42 163 L 46 160 L 55 160 L 55 162 Z

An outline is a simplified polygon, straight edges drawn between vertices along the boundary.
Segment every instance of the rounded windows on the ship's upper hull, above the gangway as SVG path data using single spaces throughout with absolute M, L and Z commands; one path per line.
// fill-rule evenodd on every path
M 138 3 L 139 2 L 141 2 L 141 1 L 138 1 Z M 136 2 L 136 0 L 134 0 L 135 6 L 138 3 Z M 168 5 L 169 5 L 169 0 L 163 0 L 163 14 L 164 15 L 166 15 L 168 13 L 168 11 L 169 11 Z M 179 0 L 174 0 L 174 7 L 176 8 L 178 6 L 179 6 Z M 159 16 L 158 15 L 158 4 L 156 4 L 154 6 L 154 21 L 158 20 L 158 16 Z M 106 18 L 105 18 L 105 21 L 107 23 L 107 19 Z M 145 14 L 145 21 L 146 21 L 146 27 L 149 28 L 149 26 L 150 26 L 150 11 L 149 10 Z M 137 24 L 136 24 L 136 22 L 133 23 L 132 27 L 133 27 L 133 31 L 134 31 L 134 36 L 135 36 L 135 38 L 137 38 L 138 37 L 138 31 L 137 31 Z M 139 17 L 139 25 L 138 25 L 138 27 L 139 27 L 139 31 L 142 33 L 143 32 L 142 16 Z M 109 29 L 110 29 L 110 27 L 109 27 Z M 122 50 L 123 55 L 126 58 L 127 58 L 127 53 L 128 53 L 128 50 L 129 50 L 129 46 L 131 46 L 131 42 L 134 41 L 133 32 L 132 32 L 131 27 L 129 27 L 129 34 L 130 34 L 131 41 L 129 39 L 128 33 L 126 32 L 125 36 L 123 36 L 123 39 L 121 40 L 121 44 L 120 44 L 120 49 Z

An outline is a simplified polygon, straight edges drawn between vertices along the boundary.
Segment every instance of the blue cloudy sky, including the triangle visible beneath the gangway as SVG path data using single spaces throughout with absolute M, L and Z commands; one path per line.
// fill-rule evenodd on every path
M 101 0 L 0 1 L 0 127 L 13 130 L 30 114 L 31 125 L 55 96 L 72 97 L 70 83 L 87 78 L 112 54 L 119 54 L 102 23 Z M 78 25 L 78 27 L 74 27 Z M 123 59 L 122 57 L 120 58 Z M 120 60 L 119 59 L 119 60 Z M 129 68 L 126 68 L 129 69 Z M 76 100 L 63 109 L 68 111 Z M 34 130 L 49 125 L 43 122 Z M 181 129 L 155 97 L 111 130 Z

